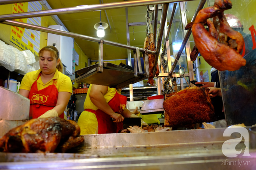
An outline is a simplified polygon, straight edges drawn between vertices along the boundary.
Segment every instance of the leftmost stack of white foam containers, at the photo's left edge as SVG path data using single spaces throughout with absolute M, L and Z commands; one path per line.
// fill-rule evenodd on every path
M 0 66 L 5 67 L 9 71 L 15 69 L 15 53 L 12 51 L 12 46 L 0 42 Z

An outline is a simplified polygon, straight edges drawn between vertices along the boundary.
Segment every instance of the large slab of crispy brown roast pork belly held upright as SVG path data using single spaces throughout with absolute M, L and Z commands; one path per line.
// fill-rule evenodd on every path
M 197 86 L 175 92 L 163 102 L 166 127 L 216 121 L 209 89 Z

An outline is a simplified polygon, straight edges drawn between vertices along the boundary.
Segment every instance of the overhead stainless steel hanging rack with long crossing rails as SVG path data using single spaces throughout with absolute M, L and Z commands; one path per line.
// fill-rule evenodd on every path
M 0 2 L 0 5 L 2 4 L 13 4 L 15 2 L 30 2 L 32 0 L 3 0 Z M 117 47 L 121 47 L 121 48 L 126 48 L 128 49 L 128 64 L 131 57 L 130 57 L 130 50 L 134 51 L 134 57 L 135 58 L 139 58 L 139 52 L 142 52 L 143 54 L 145 53 L 145 50 L 142 48 L 137 48 L 134 46 L 130 46 L 130 45 L 125 45 L 125 44 L 120 44 L 117 42 L 111 42 L 108 40 L 103 40 L 100 38 L 94 38 L 94 37 L 89 37 L 86 35 L 80 35 L 77 33 L 71 33 L 71 32 L 66 32 L 66 31 L 61 31 L 61 30 L 56 30 L 56 29 L 50 29 L 47 27 L 42 27 L 42 26 L 35 26 L 32 24 L 26 24 L 26 23 L 22 23 L 22 22 L 17 22 L 17 21 L 13 21 L 13 19 L 19 19 L 19 18 L 30 18 L 30 17 L 37 17 L 37 16 L 49 16 L 49 15 L 61 15 L 61 14 L 67 14 L 67 13 L 79 13 L 79 12 L 85 12 L 85 11 L 96 11 L 96 10 L 106 10 L 106 9 L 116 9 L 116 8 L 122 8 L 122 7 L 126 7 L 126 23 L 128 23 L 128 11 L 127 11 L 127 7 L 134 7 L 134 6 L 141 6 L 141 5 L 154 5 L 154 4 L 163 4 L 162 6 L 162 15 L 161 15 L 161 20 L 160 20 L 160 29 L 159 29 L 159 34 L 158 37 L 154 37 L 154 39 L 158 39 L 157 40 L 157 46 L 156 46 L 156 52 L 154 51 L 150 51 L 148 50 L 148 54 L 153 54 L 156 55 L 155 57 L 155 61 L 158 61 L 159 58 L 159 54 L 161 53 L 161 42 L 162 42 L 162 38 L 163 38 L 163 33 L 166 32 L 164 31 L 165 28 L 167 28 L 167 21 L 166 21 L 166 16 L 167 16 L 167 11 L 168 11 L 168 7 L 169 7 L 169 3 L 171 2 L 177 2 L 177 0 L 137 0 L 137 1 L 124 1 L 124 2 L 118 2 L 118 3 L 107 3 L 107 4 L 96 4 L 96 5 L 87 5 L 87 6 L 79 6 L 79 7 L 69 7 L 69 8 L 62 8 L 62 9 L 50 9 L 50 10 L 45 10 L 45 11 L 33 11 L 33 12 L 26 12 L 26 13 L 17 13 L 17 14 L 7 14 L 7 15 L 0 15 L 0 23 L 2 24 L 7 24 L 7 25 L 11 25 L 11 26 L 18 26 L 18 27 L 24 27 L 24 28 L 28 28 L 28 29 L 33 29 L 33 30 L 37 30 L 37 31 L 43 31 L 46 33 L 53 33 L 53 34 L 57 34 L 57 35 L 63 35 L 63 36 L 67 36 L 67 37 L 73 37 L 73 38 L 79 38 L 79 39 L 83 39 L 83 40 L 88 40 L 88 41 L 92 41 L 92 42 L 98 42 L 99 43 L 99 66 L 97 68 L 97 72 L 102 72 L 103 71 L 103 44 L 108 44 L 111 46 L 117 46 Z M 179 1 L 180 2 L 180 1 Z M 195 12 L 195 15 L 193 17 L 193 19 L 195 18 L 195 16 L 197 15 L 198 11 L 200 9 L 202 9 L 203 5 L 205 4 L 206 0 L 201 0 L 198 7 L 197 7 L 197 11 Z M 184 2 L 180 2 L 180 4 L 182 4 Z M 173 6 L 173 13 L 174 13 L 174 8 L 176 7 L 176 5 Z M 182 7 L 182 5 L 181 5 Z M 185 15 L 183 13 L 183 15 Z M 155 17 L 156 18 L 156 17 Z M 172 20 L 172 18 L 171 18 Z M 169 22 L 169 27 L 168 30 L 170 30 L 172 22 Z M 192 20 L 193 21 L 193 20 Z M 156 28 L 158 21 L 155 19 L 154 23 L 152 23 L 154 25 L 154 28 Z M 185 23 L 185 22 L 184 22 Z M 127 29 L 128 28 L 128 29 Z M 129 25 L 127 24 L 126 26 L 127 29 L 127 40 L 129 39 Z M 191 34 L 191 30 L 188 30 L 186 33 L 186 36 L 182 42 L 182 46 L 180 48 L 180 51 L 178 53 L 178 55 L 176 56 L 177 60 L 179 59 L 184 47 L 186 44 L 188 44 L 186 46 L 186 51 L 187 51 L 187 58 L 189 60 L 189 43 L 187 43 L 187 40 L 189 38 L 189 35 Z M 156 34 L 154 35 L 156 36 Z M 170 53 L 169 51 L 169 43 L 168 43 L 168 37 L 169 37 L 169 31 L 166 32 L 165 34 L 165 44 L 166 44 L 166 49 L 167 49 L 167 57 L 168 57 L 168 68 L 169 71 L 171 69 L 171 71 L 169 73 L 164 73 L 162 72 L 160 74 L 159 77 L 167 77 L 169 75 L 171 75 L 173 73 L 173 70 L 175 67 L 171 67 L 171 62 L 170 62 Z M 127 41 L 127 44 L 129 43 L 130 40 Z M 147 57 L 146 57 L 147 58 Z M 174 61 L 173 66 L 176 66 L 177 64 L 177 60 Z M 138 66 L 139 68 L 141 68 L 140 63 L 135 61 L 135 67 Z M 139 61 L 139 60 L 138 60 Z M 189 60 L 190 62 L 190 60 Z M 154 64 L 154 72 L 156 70 L 156 63 Z M 189 66 L 189 78 L 190 80 L 193 80 L 193 67 L 191 62 L 188 64 Z M 192 71 L 191 71 L 192 70 Z M 139 69 L 140 73 L 136 72 L 137 69 L 135 69 L 135 73 L 134 73 L 134 78 L 130 79 L 130 80 L 125 80 L 123 83 L 120 84 L 119 87 L 123 87 L 127 84 L 131 84 L 131 83 L 135 83 L 138 82 L 142 79 L 146 79 L 147 75 L 144 75 L 144 77 L 137 79 L 136 77 L 138 77 L 139 74 L 141 74 L 141 69 Z M 174 75 L 174 77 L 179 77 L 179 75 Z M 185 75 L 186 77 L 186 75 Z M 158 79 L 159 84 L 161 83 L 161 78 Z M 130 86 L 130 91 L 132 91 L 132 86 Z M 158 93 L 161 93 L 161 87 L 159 86 L 158 88 Z M 132 96 L 132 95 L 130 95 Z M 131 101 L 132 101 L 132 97 L 131 97 Z

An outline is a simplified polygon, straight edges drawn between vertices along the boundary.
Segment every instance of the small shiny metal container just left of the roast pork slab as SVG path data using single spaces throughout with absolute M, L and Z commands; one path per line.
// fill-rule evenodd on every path
M 164 99 L 154 99 L 154 100 L 144 101 L 141 108 L 141 115 L 164 113 L 163 101 Z

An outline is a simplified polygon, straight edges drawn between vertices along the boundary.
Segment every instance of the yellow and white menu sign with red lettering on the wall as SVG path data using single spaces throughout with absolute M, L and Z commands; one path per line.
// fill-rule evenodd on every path
M 13 4 L 13 13 L 24 13 L 30 11 L 41 11 L 42 5 L 40 2 L 23 2 Z M 41 26 L 41 17 L 17 19 L 15 21 L 24 22 Z M 10 41 L 24 50 L 30 50 L 35 56 L 38 56 L 40 49 L 40 31 L 26 29 L 22 27 L 11 26 Z

